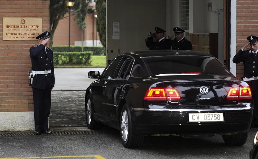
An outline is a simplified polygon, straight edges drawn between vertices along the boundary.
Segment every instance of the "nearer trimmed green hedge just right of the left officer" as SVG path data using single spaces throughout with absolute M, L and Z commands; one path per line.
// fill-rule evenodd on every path
M 87 52 L 53 52 L 54 65 L 90 65 L 91 51 Z

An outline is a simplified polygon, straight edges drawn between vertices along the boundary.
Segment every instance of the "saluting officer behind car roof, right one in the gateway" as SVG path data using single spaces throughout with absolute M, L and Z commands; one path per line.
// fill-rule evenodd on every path
M 178 27 L 173 28 L 175 39 L 172 40 L 172 50 L 192 50 L 192 43 L 184 37 L 184 30 Z M 167 36 L 167 39 L 172 39 L 171 36 Z

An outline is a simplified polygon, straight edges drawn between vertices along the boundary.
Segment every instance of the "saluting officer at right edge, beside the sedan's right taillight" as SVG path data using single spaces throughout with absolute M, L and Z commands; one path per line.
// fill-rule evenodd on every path
M 243 80 L 249 84 L 253 100 L 253 122 L 252 126 L 258 126 L 258 37 L 250 35 L 246 38 L 247 43 L 233 58 L 234 63 L 243 62 Z

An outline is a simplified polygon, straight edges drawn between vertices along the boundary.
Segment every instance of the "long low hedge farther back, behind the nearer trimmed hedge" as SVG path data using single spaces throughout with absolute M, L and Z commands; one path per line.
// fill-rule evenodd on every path
M 69 46 L 52 46 L 53 52 L 68 52 Z M 106 48 L 97 46 L 83 46 L 83 51 L 92 51 L 92 55 L 106 55 Z M 70 46 L 70 52 L 82 52 L 81 46 Z

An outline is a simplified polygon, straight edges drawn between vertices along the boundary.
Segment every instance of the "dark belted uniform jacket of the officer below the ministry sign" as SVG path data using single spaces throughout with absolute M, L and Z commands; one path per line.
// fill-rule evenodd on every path
M 46 47 L 47 54 L 45 52 L 45 46 L 39 44 L 30 48 L 31 69 L 33 71 L 47 71 L 51 70 L 49 74 L 35 74 L 30 86 L 37 89 L 50 89 L 55 86 L 55 74 L 54 74 L 54 61 L 53 51 Z

